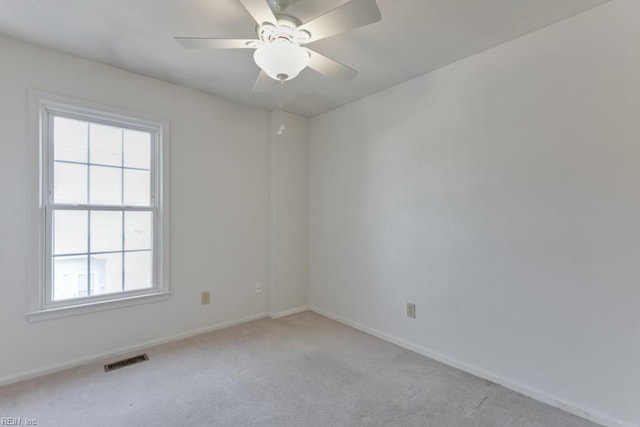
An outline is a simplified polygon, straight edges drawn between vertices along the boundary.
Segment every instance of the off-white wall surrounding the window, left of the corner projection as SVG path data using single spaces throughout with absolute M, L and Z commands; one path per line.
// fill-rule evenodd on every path
M 266 111 L 0 38 L 0 383 L 30 371 L 266 314 Z M 171 126 L 171 286 L 167 302 L 29 323 L 27 91 L 36 88 L 165 117 Z M 305 173 L 306 175 L 306 173 Z M 303 233 L 306 235 L 306 232 Z M 200 305 L 200 292 L 211 304 Z

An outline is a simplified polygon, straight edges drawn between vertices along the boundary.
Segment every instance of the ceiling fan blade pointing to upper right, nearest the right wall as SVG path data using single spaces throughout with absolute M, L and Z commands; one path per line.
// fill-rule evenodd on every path
M 311 34 L 310 42 L 333 36 L 382 19 L 375 0 L 351 0 L 312 19 L 299 28 Z

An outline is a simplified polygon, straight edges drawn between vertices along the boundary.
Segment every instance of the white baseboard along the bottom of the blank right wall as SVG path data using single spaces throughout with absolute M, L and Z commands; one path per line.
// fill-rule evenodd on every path
M 405 341 L 401 338 L 394 337 L 385 332 L 379 331 L 377 329 L 370 328 L 361 323 L 354 322 L 352 320 L 346 319 L 342 316 L 338 316 L 336 314 L 325 311 L 321 308 L 315 306 L 309 306 L 309 310 L 318 313 L 322 316 L 333 319 L 337 322 L 350 326 L 354 329 L 358 329 L 362 332 L 365 332 L 369 335 L 373 335 L 377 338 L 380 338 L 384 341 L 388 341 L 392 344 L 396 344 L 400 347 L 406 348 L 408 350 L 414 351 L 418 354 L 426 356 L 430 359 L 437 360 L 438 362 L 444 363 L 445 365 L 452 366 L 454 368 L 460 369 L 462 371 L 473 374 L 477 377 L 483 378 L 485 380 L 492 381 L 494 383 L 500 384 L 501 386 L 508 388 L 510 390 L 516 391 L 525 396 L 531 397 L 532 399 L 538 400 L 540 402 L 546 403 L 553 407 L 562 409 L 563 411 L 569 412 L 571 414 L 577 415 L 579 417 L 585 418 L 594 423 L 602 424 L 608 427 L 634 427 L 635 424 L 629 421 L 623 421 L 617 419 L 608 414 L 603 414 L 601 412 L 585 408 L 581 405 L 575 404 L 573 402 L 569 402 L 557 396 L 554 396 L 550 393 L 537 390 L 534 387 L 530 387 L 526 384 L 521 384 L 516 381 L 511 381 L 508 378 L 504 378 L 500 375 L 485 371 L 477 366 L 471 365 L 469 363 L 462 362 L 460 360 L 454 359 L 452 357 L 446 356 L 444 354 L 438 353 L 437 351 L 433 351 L 431 349 L 413 344 L 409 341 Z

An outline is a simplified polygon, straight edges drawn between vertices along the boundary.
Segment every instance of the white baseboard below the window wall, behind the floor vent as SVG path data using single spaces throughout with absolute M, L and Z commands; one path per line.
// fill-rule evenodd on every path
M 200 329 L 196 329 L 196 330 L 189 331 L 189 332 L 183 332 L 181 334 L 171 335 L 169 337 L 159 338 L 159 339 L 156 339 L 156 340 L 150 340 L 150 341 L 146 341 L 146 342 L 143 342 L 141 344 L 136 344 L 136 345 L 133 345 L 133 346 L 122 347 L 122 348 L 119 348 L 119 349 L 113 350 L 113 351 L 108 351 L 108 352 L 99 353 L 99 354 L 93 354 L 91 356 L 82 357 L 82 358 L 71 360 L 71 361 L 68 361 L 68 362 L 50 365 L 50 366 L 48 366 L 46 368 L 38 368 L 38 369 L 30 370 L 30 371 L 20 372 L 18 374 L 8 375 L 8 376 L 0 378 L 0 386 L 7 385 L 7 384 L 12 384 L 12 383 L 17 383 L 17 382 L 20 382 L 20 381 L 28 380 L 30 378 L 35 378 L 35 377 L 39 377 L 39 376 L 42 376 L 42 375 L 51 374 L 53 372 L 63 371 L 65 369 L 73 368 L 73 367 L 76 367 L 76 366 L 81 366 L 81 365 L 86 365 L 86 364 L 89 364 L 89 363 L 98 362 L 98 361 L 109 359 L 109 358 L 112 358 L 112 357 L 115 357 L 115 356 L 120 356 L 120 355 L 123 355 L 123 354 L 126 354 L 126 353 L 131 353 L 131 352 L 139 351 L 139 350 L 146 349 L 146 348 L 149 348 L 149 347 L 154 347 L 156 345 L 166 344 L 166 343 L 169 343 L 169 342 L 172 342 L 172 341 L 178 341 L 178 340 L 181 340 L 181 339 L 190 338 L 190 337 L 193 337 L 195 335 L 206 334 L 208 332 L 213 332 L 213 331 L 217 331 L 219 329 L 229 328 L 231 326 L 240 325 L 242 323 L 247 323 L 247 322 L 251 322 L 251 321 L 254 321 L 254 320 L 258 320 L 258 319 L 264 319 L 265 317 L 269 317 L 269 313 L 254 314 L 253 316 L 247 316 L 247 317 L 243 317 L 243 318 L 240 318 L 240 319 L 231 320 L 229 322 L 219 323 L 219 324 L 213 325 L 213 326 L 207 326 L 206 328 L 200 328 Z

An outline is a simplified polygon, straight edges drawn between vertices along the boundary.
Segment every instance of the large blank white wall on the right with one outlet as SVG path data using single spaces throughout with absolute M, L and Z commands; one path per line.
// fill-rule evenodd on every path
M 312 119 L 310 304 L 640 424 L 638 40 L 615 0 Z

